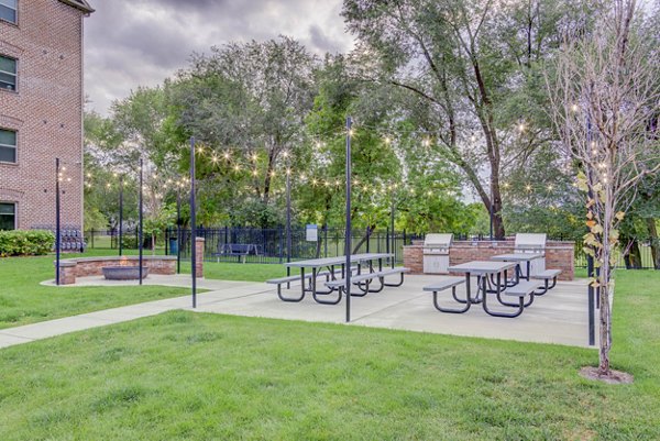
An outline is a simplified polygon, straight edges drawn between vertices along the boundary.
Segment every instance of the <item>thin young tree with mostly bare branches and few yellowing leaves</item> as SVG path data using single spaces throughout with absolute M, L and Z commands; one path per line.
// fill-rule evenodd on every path
M 613 269 L 618 227 L 640 180 L 660 169 L 660 84 L 653 36 L 636 0 L 609 0 L 592 32 L 565 36 L 547 75 L 552 117 L 587 194 L 585 251 L 600 268 L 600 364 L 585 374 L 622 379 L 610 368 Z

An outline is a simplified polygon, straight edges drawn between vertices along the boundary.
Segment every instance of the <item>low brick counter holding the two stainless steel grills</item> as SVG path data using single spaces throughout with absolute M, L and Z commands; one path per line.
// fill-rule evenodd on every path
M 404 266 L 411 274 L 424 274 L 424 241 L 404 246 Z M 514 252 L 514 241 L 455 241 L 449 249 L 449 264 L 459 265 L 470 261 L 487 261 L 497 254 Z M 560 280 L 575 278 L 575 244 L 549 241 L 546 243 L 546 268 L 561 269 Z

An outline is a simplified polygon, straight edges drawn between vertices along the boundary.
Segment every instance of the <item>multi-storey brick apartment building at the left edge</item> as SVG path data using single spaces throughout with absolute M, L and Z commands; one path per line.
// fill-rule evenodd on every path
M 85 0 L 0 0 L 0 230 L 82 228 Z

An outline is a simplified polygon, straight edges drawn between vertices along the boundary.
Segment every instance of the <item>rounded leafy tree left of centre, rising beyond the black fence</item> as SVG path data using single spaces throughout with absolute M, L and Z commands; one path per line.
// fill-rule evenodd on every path
M 229 43 L 212 47 L 210 55 L 194 55 L 191 66 L 168 88 L 178 124 L 208 147 L 210 157 L 220 159 L 202 166 L 200 179 L 216 188 L 230 180 L 251 187 L 252 197 L 258 196 L 267 209 L 284 154 L 295 155 L 305 139 L 316 63 L 305 46 L 285 36 Z M 233 169 L 237 157 L 253 161 L 251 169 Z

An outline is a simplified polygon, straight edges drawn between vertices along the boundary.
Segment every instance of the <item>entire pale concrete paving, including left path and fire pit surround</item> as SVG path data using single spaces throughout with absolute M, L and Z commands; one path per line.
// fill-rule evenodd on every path
M 559 343 L 586 346 L 587 302 L 586 280 L 563 282 L 549 294 L 538 297 L 535 304 L 516 319 L 495 318 L 475 305 L 464 315 L 437 311 L 430 293 L 421 287 L 442 276 L 406 276 L 403 287 L 385 288 L 382 293 L 353 298 L 353 326 L 391 328 L 454 335 L 527 342 Z M 189 276 L 151 275 L 147 285 L 189 287 Z M 47 282 L 44 284 L 52 284 Z M 132 283 L 105 280 L 102 277 L 78 278 L 75 286 L 121 286 Z M 272 285 L 250 282 L 200 279 L 198 287 L 209 289 L 198 295 L 199 312 L 217 312 L 246 317 L 266 317 L 288 320 L 343 323 L 344 302 L 336 306 L 319 305 L 310 296 L 298 304 L 277 298 Z M 62 289 L 67 289 L 62 287 Z M 299 286 L 292 286 L 297 294 Z M 464 288 L 459 296 L 464 298 Z M 451 294 L 441 297 L 451 305 Z M 494 306 L 494 300 L 490 302 Z M 191 310 L 190 296 L 148 301 L 139 305 L 107 309 L 79 316 L 51 320 L 18 328 L 0 330 L 0 348 L 61 335 L 68 332 L 155 316 L 175 309 Z

